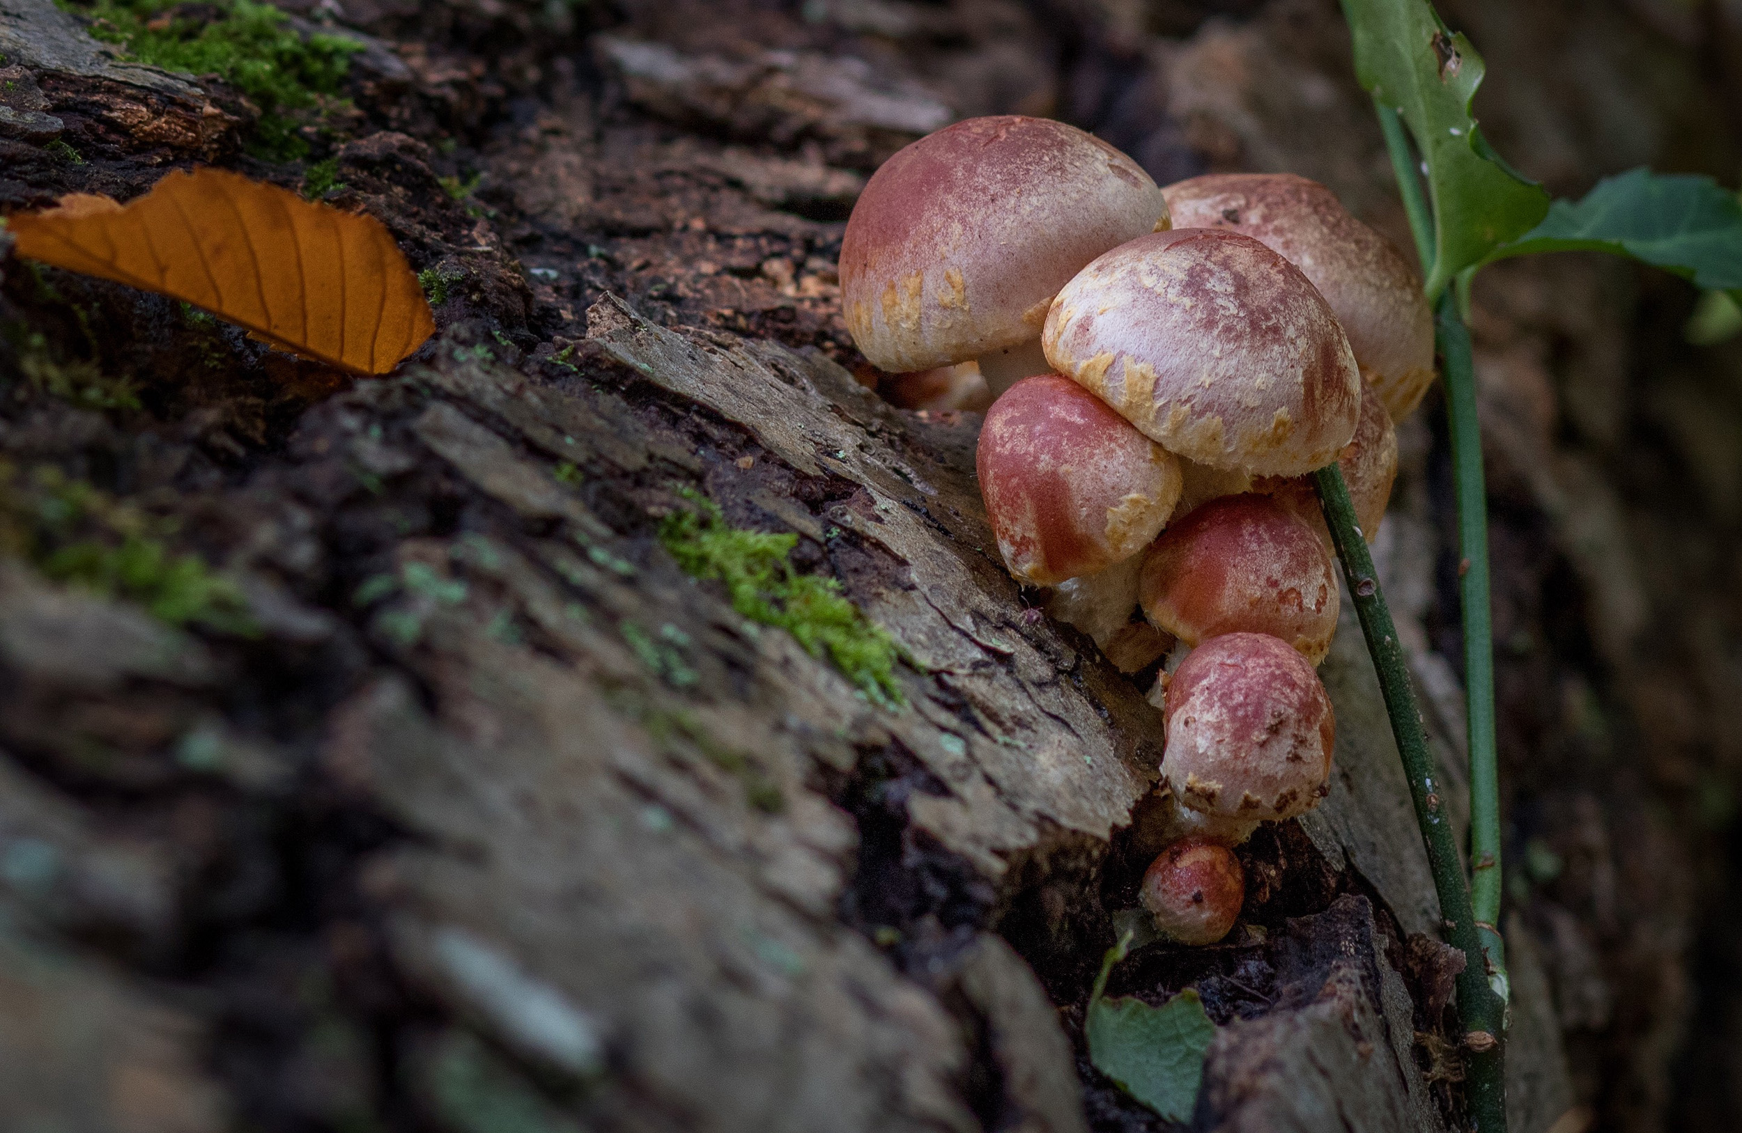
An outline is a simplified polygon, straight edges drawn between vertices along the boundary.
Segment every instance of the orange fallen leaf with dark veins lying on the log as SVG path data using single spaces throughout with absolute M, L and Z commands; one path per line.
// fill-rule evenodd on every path
M 436 332 L 380 221 L 221 169 L 171 172 L 127 205 L 68 193 L 7 228 L 19 256 L 183 299 L 354 374 L 388 372 Z

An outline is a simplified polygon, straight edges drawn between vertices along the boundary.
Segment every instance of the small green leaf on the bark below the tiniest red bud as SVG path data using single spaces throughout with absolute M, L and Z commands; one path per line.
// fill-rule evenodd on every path
M 1160 1008 L 1131 997 L 1103 999 L 1108 973 L 1129 949 L 1131 933 L 1125 933 L 1101 961 L 1084 1020 L 1089 1062 L 1167 1121 L 1190 1121 L 1216 1023 L 1204 1015 L 1192 989 Z

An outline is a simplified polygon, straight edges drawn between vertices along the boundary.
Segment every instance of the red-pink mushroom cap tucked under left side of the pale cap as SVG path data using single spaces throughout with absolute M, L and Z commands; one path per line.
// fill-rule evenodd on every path
M 1005 566 L 1036 587 L 1136 555 L 1179 498 L 1179 463 L 1057 374 L 993 402 L 976 466 Z

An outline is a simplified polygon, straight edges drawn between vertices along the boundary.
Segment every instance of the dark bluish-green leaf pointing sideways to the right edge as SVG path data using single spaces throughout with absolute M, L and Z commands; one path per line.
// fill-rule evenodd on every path
M 1632 256 L 1714 291 L 1742 287 L 1742 200 L 1711 178 L 1631 169 L 1580 202 L 1554 202 L 1488 259 L 1585 251 Z

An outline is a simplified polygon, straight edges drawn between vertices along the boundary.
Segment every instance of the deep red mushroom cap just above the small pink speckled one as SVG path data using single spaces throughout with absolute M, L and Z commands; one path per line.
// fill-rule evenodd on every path
M 1139 597 L 1150 621 L 1188 646 L 1223 634 L 1268 634 L 1317 665 L 1336 635 L 1333 571 L 1324 543 L 1282 503 L 1223 496 L 1155 540 Z

